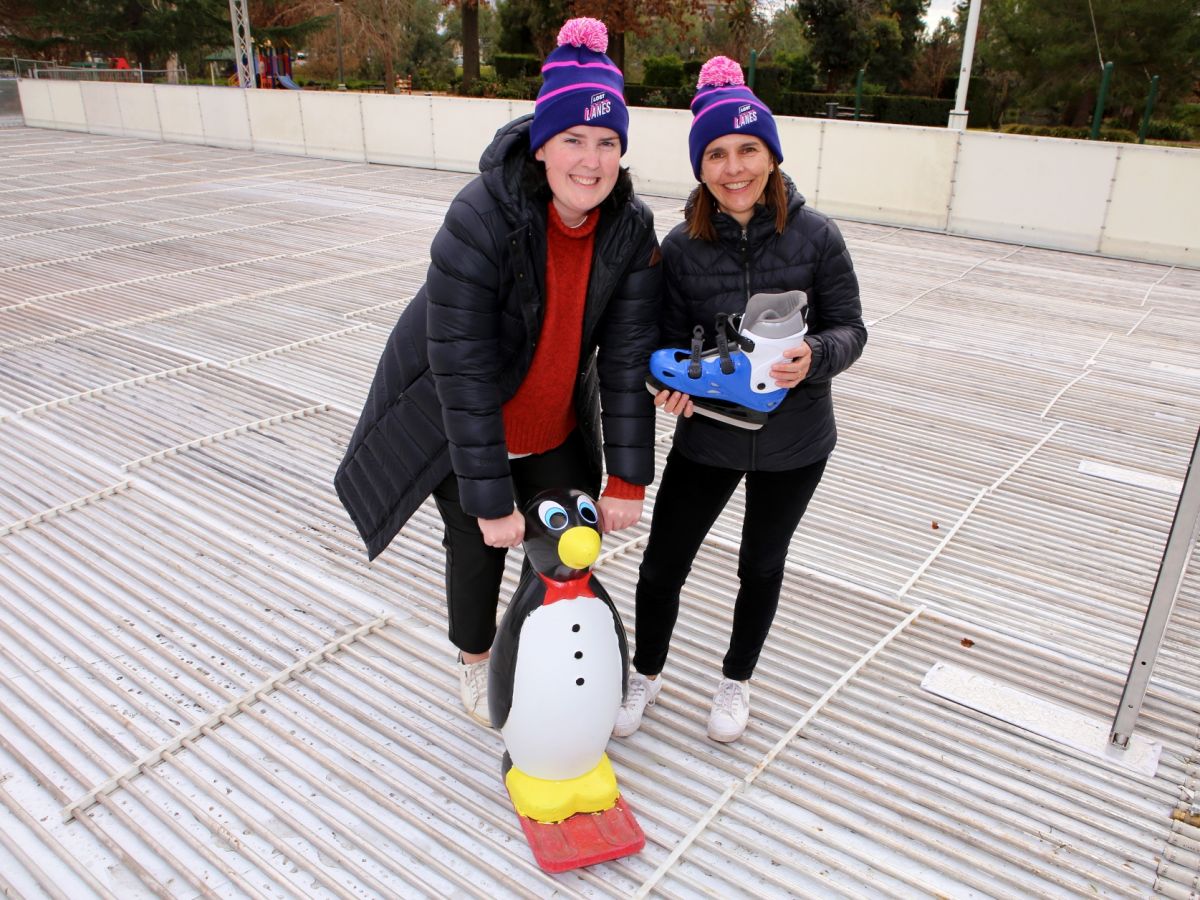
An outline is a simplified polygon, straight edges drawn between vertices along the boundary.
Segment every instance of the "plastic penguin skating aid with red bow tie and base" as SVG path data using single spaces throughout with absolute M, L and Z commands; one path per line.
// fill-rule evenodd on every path
M 504 738 L 504 784 L 538 864 L 565 871 L 636 853 L 646 838 L 605 748 L 629 648 L 590 571 L 595 502 L 545 491 L 522 508 L 528 568 L 492 644 L 487 702 Z

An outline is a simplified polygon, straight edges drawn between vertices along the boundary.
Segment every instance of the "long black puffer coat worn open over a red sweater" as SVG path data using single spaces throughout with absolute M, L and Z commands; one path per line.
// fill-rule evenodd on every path
M 532 118 L 497 132 L 451 203 L 334 478 L 372 558 L 451 469 L 469 515 L 512 511 L 500 407 L 529 371 L 545 316 L 546 203 L 522 187 Z M 653 215 L 622 182 L 601 204 L 594 246 L 576 415 L 598 472 L 602 420 L 607 470 L 647 485 L 654 406 L 642 378 L 659 346 L 662 266 Z

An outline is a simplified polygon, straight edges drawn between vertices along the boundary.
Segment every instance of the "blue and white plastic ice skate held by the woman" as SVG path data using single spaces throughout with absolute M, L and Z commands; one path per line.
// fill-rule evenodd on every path
M 716 317 L 716 347 L 704 350 L 704 329 L 692 332 L 691 349 L 656 350 L 650 356 L 646 386 L 682 391 L 701 415 L 756 430 L 787 395 L 776 388 L 770 367 L 790 361 L 808 332 L 808 296 L 803 290 L 755 294 L 740 316 Z

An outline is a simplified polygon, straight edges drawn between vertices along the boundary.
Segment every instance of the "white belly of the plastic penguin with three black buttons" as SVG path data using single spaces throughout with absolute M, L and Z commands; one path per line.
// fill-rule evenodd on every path
M 599 598 L 558 600 L 521 629 L 512 707 L 500 730 L 512 764 L 553 781 L 600 762 L 624 672 L 612 612 Z

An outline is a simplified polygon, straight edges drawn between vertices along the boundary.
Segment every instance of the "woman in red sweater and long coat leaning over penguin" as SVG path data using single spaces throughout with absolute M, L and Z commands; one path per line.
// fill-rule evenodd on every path
M 520 506 L 576 487 L 600 497 L 601 530 L 616 532 L 641 517 L 654 476 L 642 377 L 662 266 L 653 215 L 620 167 L 624 79 L 596 19 L 571 19 L 558 42 L 533 115 L 496 133 L 450 204 L 335 476 L 372 558 L 433 494 L 460 692 L 484 725 Z

